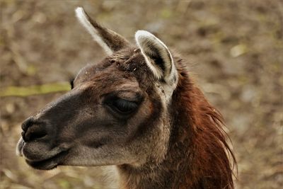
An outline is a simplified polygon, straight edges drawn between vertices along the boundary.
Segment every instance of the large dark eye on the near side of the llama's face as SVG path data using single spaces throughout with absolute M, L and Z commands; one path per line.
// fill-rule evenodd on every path
M 137 109 L 138 105 L 135 102 L 127 101 L 121 98 L 117 98 L 112 101 L 112 108 L 114 108 L 117 112 L 122 114 L 132 113 Z

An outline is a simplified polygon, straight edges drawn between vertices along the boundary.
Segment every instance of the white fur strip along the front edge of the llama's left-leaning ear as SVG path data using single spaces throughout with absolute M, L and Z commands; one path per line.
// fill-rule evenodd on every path
M 76 11 L 76 17 L 79 19 L 79 21 L 83 25 L 83 27 L 86 28 L 86 30 L 88 30 L 88 33 L 91 34 L 93 39 L 96 40 L 96 42 L 98 42 L 98 44 L 101 47 L 103 47 L 105 52 L 108 55 L 111 55 L 112 54 L 112 50 L 103 41 L 103 39 L 100 36 L 100 33 L 98 33 L 98 30 L 96 30 L 96 28 L 93 27 L 93 25 L 91 24 L 90 18 L 88 18 L 88 16 L 86 15 L 86 12 L 83 10 L 83 8 L 82 7 L 77 7 L 75 11 Z

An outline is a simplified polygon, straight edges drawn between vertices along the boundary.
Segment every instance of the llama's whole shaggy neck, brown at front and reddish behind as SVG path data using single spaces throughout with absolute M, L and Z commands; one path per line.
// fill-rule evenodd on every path
M 178 60 L 178 65 L 182 65 Z M 121 188 L 233 189 L 233 171 L 221 115 L 178 68 L 179 81 L 171 101 L 171 137 L 161 164 L 141 168 L 118 166 Z

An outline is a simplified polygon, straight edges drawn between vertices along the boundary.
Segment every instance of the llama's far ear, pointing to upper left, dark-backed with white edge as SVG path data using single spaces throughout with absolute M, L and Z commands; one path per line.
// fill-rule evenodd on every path
M 76 8 L 76 17 L 108 55 L 129 46 L 129 42 L 121 35 L 93 21 L 82 7 Z

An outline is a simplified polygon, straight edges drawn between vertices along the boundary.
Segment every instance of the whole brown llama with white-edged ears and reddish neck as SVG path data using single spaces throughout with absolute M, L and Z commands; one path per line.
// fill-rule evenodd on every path
M 223 119 L 184 60 L 147 31 L 131 45 L 83 8 L 76 16 L 108 56 L 23 122 L 16 153 L 40 170 L 115 166 L 119 188 L 233 188 Z

